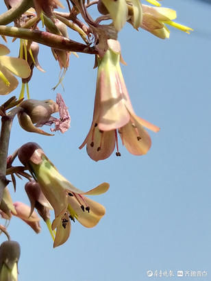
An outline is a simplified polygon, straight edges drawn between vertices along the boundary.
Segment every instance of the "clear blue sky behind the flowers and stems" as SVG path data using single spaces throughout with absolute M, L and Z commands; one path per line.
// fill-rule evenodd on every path
M 64 91 L 61 86 L 53 91 L 60 69 L 49 48 L 40 47 L 39 61 L 46 73 L 34 70 L 30 95 L 55 99 L 62 93 L 71 128 L 47 137 L 23 131 L 15 119 L 10 154 L 34 141 L 76 187 L 86 191 L 109 182 L 110 190 L 92 197 L 106 208 L 99 224 L 86 229 L 72 223 L 69 240 L 55 249 L 44 223 L 42 232 L 35 234 L 20 219 L 12 219 L 8 230 L 21 244 L 20 281 L 210 280 L 211 4 L 163 0 L 162 6 L 175 9 L 177 22 L 194 32 L 188 35 L 170 27 L 170 39 L 161 40 L 127 24 L 119 34 L 127 62 L 122 71 L 134 110 L 161 127 L 158 133 L 149 132 L 152 147 L 145 156 L 132 156 L 120 146 L 121 157 L 112 154 L 94 162 L 86 148 L 78 149 L 92 121 L 94 56 L 71 56 Z M 3 3 L 0 9 L 5 10 Z M 69 36 L 74 39 L 74 32 Z M 16 43 L 8 41 L 12 56 L 17 56 Z M 10 97 L 19 93 L 20 87 Z M 7 98 L 1 97 L 2 102 Z M 49 132 L 49 127 L 44 130 Z M 18 181 L 16 194 L 9 187 L 14 201 L 29 204 L 24 182 Z M 1 235 L 0 242 L 4 240 Z M 171 270 L 175 276 L 150 278 L 149 270 Z M 177 270 L 206 271 L 208 276 L 179 278 Z

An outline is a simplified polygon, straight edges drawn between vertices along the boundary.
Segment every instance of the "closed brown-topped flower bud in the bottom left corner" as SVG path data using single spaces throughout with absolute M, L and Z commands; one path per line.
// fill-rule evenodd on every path
M 16 241 L 5 241 L 0 245 L 0 280 L 18 281 L 18 260 L 21 248 Z

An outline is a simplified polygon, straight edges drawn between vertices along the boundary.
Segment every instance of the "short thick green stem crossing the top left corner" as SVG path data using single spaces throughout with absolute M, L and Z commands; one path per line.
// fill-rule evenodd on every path
M 13 8 L 0 15 L 0 25 L 8 25 L 8 23 L 12 23 L 12 21 L 18 19 L 21 14 L 31 8 L 32 5 L 32 0 L 21 1 L 21 3 L 18 3 Z

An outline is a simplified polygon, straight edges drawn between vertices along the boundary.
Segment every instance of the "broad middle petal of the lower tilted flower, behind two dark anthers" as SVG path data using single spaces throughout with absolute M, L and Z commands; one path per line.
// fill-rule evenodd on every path
M 90 198 L 86 197 L 85 201 L 90 207 L 90 212 L 83 211 L 75 197 L 69 197 L 69 204 L 76 212 L 79 223 L 84 225 L 86 228 L 93 228 L 95 225 L 97 225 L 101 217 L 105 215 L 105 208 Z

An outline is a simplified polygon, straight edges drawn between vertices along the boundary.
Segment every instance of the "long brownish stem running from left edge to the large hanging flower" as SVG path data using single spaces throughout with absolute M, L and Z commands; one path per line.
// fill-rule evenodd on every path
M 63 36 L 51 34 L 49 32 L 40 32 L 39 30 L 0 26 L 0 35 L 32 40 L 54 49 L 97 54 L 95 47 L 88 47 L 87 45 L 64 38 Z

